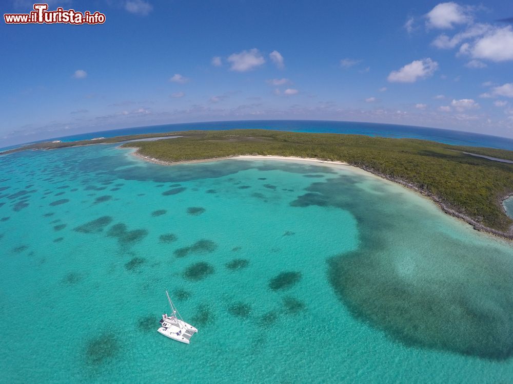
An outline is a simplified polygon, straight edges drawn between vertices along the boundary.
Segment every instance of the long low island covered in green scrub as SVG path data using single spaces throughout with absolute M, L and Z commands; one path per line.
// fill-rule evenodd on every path
M 149 138 L 159 139 L 139 141 Z M 502 204 L 513 194 L 513 164 L 510 163 L 513 151 L 418 139 L 229 130 L 120 136 L 101 138 L 93 143 L 90 140 L 36 143 L 0 155 L 108 143 L 137 148 L 136 156 L 161 164 L 242 155 L 345 162 L 428 196 L 444 212 L 466 221 L 477 230 L 513 240 L 513 220 Z

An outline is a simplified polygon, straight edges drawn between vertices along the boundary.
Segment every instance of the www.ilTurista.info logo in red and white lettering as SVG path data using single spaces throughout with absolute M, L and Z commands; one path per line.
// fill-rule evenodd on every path
M 48 11 L 48 4 L 34 4 L 34 10 L 30 13 L 6 13 L 4 20 L 6 24 L 103 24 L 105 15 L 98 11 L 82 13 L 61 7 Z

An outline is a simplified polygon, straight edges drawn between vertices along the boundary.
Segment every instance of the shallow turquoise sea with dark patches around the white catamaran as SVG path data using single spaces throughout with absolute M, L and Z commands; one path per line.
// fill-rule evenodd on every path
M 513 246 L 349 166 L 16 153 L 0 245 L 1 382 L 513 378 Z

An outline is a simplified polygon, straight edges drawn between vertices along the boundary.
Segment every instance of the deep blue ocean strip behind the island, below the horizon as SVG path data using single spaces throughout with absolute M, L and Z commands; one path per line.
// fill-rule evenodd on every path
M 152 125 L 126 128 L 121 130 L 100 131 L 73 136 L 56 137 L 53 139 L 46 139 L 43 141 L 78 141 L 89 140 L 95 137 L 114 137 L 145 133 L 230 129 L 267 129 L 291 132 L 338 133 L 395 138 L 413 138 L 438 141 L 452 145 L 483 146 L 513 151 L 513 139 L 498 136 L 410 125 L 315 120 L 212 121 L 184 124 Z

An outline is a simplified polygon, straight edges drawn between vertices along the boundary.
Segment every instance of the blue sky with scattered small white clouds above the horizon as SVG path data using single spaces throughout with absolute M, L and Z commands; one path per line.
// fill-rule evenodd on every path
M 32 3 L 5 0 L 2 13 Z M 165 123 L 324 119 L 513 137 L 510 2 L 52 0 L 1 23 L 0 146 Z M 4 144 L 4 145 L 2 145 Z

